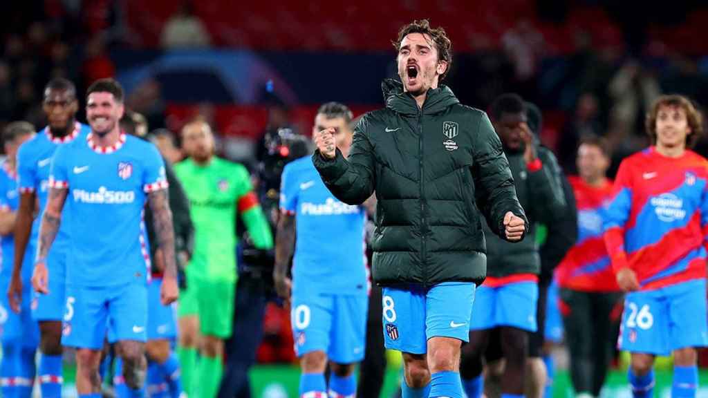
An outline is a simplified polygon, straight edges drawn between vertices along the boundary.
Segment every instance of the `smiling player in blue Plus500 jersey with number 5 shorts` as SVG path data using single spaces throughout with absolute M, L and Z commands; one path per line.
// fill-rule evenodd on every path
M 154 145 L 120 132 L 122 101 L 117 81 L 91 84 L 86 99 L 91 132 L 57 149 L 32 277 L 37 292 L 51 294 L 54 275 L 47 256 L 66 225 L 72 239 L 62 343 L 76 348 L 79 397 L 101 397 L 98 367 L 109 324 L 129 387 L 125 396 L 144 396 L 150 269 L 142 222 L 146 201 L 153 211 L 157 243 L 164 248 L 162 302 L 174 302 L 178 295 L 164 163 Z

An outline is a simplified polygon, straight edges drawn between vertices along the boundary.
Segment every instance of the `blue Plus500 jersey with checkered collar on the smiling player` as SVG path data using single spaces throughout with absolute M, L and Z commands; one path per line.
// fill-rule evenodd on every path
M 89 134 L 57 149 L 50 186 L 68 189 L 67 285 L 144 283 L 150 258 L 143 207 L 147 193 L 167 188 L 156 147 L 126 135 L 113 147 L 96 147 Z

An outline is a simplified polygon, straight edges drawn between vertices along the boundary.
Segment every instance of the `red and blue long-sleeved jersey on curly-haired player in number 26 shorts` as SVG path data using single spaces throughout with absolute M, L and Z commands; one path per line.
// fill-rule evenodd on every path
M 619 165 L 604 222 L 615 272 L 634 270 L 642 290 L 705 278 L 708 160 L 654 147 Z

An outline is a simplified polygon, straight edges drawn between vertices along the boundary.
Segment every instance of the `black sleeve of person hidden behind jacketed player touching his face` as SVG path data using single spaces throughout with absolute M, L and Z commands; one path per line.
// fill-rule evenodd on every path
M 566 200 L 565 211 L 547 224 L 547 237 L 545 243 L 539 249 L 541 257 L 541 279 L 551 280 L 553 270 L 558 266 L 566 253 L 573 247 L 578 239 L 578 210 L 576 207 L 573 187 L 568 178 L 562 173 L 559 174 L 561 187 Z

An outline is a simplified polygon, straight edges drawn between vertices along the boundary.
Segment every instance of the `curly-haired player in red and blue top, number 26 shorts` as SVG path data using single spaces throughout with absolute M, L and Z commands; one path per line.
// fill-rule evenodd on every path
M 702 116 L 683 96 L 661 96 L 646 116 L 653 144 L 619 164 L 605 246 L 627 295 L 619 348 L 632 353 L 634 397 L 652 397 L 656 356 L 673 353 L 672 397 L 695 397 L 697 347 L 708 345 L 708 161 L 687 149 Z

